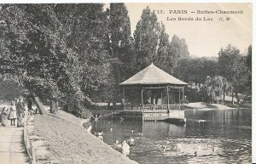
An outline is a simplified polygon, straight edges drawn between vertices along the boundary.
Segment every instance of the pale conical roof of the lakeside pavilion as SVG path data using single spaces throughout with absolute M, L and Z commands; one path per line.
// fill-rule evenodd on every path
M 153 63 L 148 65 L 142 71 L 139 71 L 136 75 L 131 76 L 125 82 L 119 83 L 119 85 L 135 85 L 135 84 L 177 84 L 187 85 L 188 83 L 178 80 L 174 76 L 162 71 L 156 67 Z

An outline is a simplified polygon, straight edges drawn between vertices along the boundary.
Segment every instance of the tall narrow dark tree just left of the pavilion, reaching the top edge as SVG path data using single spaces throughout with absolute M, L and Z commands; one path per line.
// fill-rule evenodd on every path
M 135 55 L 131 42 L 131 22 L 124 3 L 110 3 L 108 11 L 109 55 L 112 62 L 114 84 L 113 105 L 120 101 L 119 83 L 125 81 L 134 72 Z M 128 72 L 128 73 L 127 73 Z

